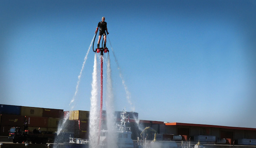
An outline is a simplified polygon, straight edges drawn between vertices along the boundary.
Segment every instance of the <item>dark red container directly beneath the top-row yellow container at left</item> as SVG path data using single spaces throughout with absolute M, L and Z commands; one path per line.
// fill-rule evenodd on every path
M 47 117 L 26 117 L 29 127 L 42 127 L 47 128 L 48 119 Z

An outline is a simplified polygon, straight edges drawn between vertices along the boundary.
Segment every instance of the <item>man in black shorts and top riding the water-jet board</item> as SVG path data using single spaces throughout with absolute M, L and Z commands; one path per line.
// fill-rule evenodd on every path
M 108 33 L 108 28 L 107 28 L 107 22 L 105 22 L 105 17 L 102 17 L 102 21 L 98 23 L 98 27 L 96 28 L 95 34 L 97 33 L 98 28 L 99 28 L 99 40 L 98 40 L 97 48 L 99 48 L 99 42 L 100 42 L 102 35 L 104 37 L 104 48 L 107 48 L 106 47 L 107 36 L 106 36 L 105 31 L 107 31 L 107 34 L 109 34 L 109 33 Z

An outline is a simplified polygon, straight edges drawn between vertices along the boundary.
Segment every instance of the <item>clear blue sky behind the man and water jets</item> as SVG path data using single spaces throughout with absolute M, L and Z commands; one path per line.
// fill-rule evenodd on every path
M 1 0 L 0 104 L 68 111 L 103 16 L 141 120 L 256 128 L 254 0 Z M 110 57 L 116 111 L 131 111 Z M 93 59 L 74 110 L 90 110 Z

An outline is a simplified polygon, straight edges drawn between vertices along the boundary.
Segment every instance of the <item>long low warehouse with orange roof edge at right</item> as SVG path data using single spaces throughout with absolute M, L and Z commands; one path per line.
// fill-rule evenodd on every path
M 221 144 L 256 145 L 256 128 L 165 122 L 162 132 L 183 135 L 186 140 Z M 225 143 L 224 143 L 225 142 Z M 247 143 L 247 144 L 246 144 Z

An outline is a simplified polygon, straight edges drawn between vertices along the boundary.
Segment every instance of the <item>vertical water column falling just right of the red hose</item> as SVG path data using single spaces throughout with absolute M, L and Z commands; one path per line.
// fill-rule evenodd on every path
M 107 59 L 107 95 L 106 95 L 106 111 L 107 111 L 107 128 L 108 128 L 108 148 L 117 148 L 117 134 L 116 134 L 116 117 L 114 111 L 114 95 L 112 88 L 112 79 L 111 79 L 111 66 L 110 66 L 110 58 L 108 52 Z

